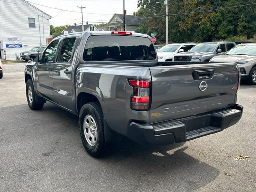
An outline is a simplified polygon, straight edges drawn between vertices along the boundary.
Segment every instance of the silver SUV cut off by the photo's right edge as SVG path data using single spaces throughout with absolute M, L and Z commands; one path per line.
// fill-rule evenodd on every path
M 236 62 L 241 78 L 256 85 L 256 43 L 239 44 L 225 55 L 215 56 L 211 62 Z

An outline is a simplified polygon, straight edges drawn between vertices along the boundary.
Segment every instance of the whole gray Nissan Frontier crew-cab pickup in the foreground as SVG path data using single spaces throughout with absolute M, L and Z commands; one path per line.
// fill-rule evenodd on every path
M 158 62 L 148 35 L 66 34 L 30 59 L 28 106 L 49 101 L 78 115 L 82 144 L 94 157 L 122 136 L 143 145 L 186 142 L 242 116 L 235 63 Z

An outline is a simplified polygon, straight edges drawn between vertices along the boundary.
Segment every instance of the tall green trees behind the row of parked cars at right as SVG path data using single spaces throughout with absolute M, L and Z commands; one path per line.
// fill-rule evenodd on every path
M 163 0 L 138 0 L 136 15 L 148 18 L 137 32 L 156 33 L 157 43 L 166 39 Z M 206 42 L 213 40 L 246 40 L 256 36 L 256 5 L 214 10 L 255 3 L 255 0 L 168 0 L 169 41 Z M 200 12 L 212 10 L 208 12 Z M 189 14 L 180 14 L 189 13 Z M 175 15 L 176 14 L 176 15 Z M 157 17 L 159 16 L 159 17 Z

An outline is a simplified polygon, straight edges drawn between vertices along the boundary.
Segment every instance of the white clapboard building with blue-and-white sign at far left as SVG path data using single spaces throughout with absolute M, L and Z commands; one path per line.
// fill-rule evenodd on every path
M 50 38 L 50 15 L 25 0 L 0 0 L 0 57 L 15 60 L 15 54 L 46 45 Z

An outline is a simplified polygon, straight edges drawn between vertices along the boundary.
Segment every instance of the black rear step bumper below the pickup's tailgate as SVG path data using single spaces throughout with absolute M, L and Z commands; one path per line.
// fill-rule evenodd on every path
M 242 117 L 242 112 L 243 107 L 236 104 L 232 108 L 160 123 L 139 124 L 132 122 L 128 137 L 143 145 L 185 142 L 220 132 L 236 124 Z

